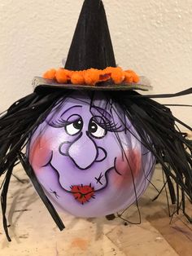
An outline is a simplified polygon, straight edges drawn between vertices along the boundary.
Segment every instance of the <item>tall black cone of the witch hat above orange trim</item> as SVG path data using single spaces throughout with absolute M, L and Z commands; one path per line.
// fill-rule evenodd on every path
M 116 60 L 101 0 L 85 0 L 65 68 L 84 70 L 116 67 Z

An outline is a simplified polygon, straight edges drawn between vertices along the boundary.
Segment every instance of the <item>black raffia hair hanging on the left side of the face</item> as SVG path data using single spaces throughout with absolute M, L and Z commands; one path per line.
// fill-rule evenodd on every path
M 41 200 L 46 205 L 51 216 L 60 230 L 63 230 L 64 225 L 55 211 L 55 208 L 50 203 L 46 194 L 43 192 L 40 184 L 34 175 L 32 167 L 29 165 L 26 154 L 22 151 L 28 143 L 28 138 L 31 132 L 45 120 L 50 110 L 54 107 L 55 102 L 60 98 L 60 92 L 37 94 L 33 92 L 22 99 L 19 99 L 7 109 L 6 113 L 2 113 L 0 117 L 0 176 L 5 174 L 2 185 L 1 205 L 2 205 L 2 221 L 3 227 L 7 236 L 7 240 L 11 241 L 7 229 L 7 192 L 11 179 L 11 174 L 14 166 L 18 163 L 24 167 L 26 174 L 31 179 L 34 188 L 41 197 Z

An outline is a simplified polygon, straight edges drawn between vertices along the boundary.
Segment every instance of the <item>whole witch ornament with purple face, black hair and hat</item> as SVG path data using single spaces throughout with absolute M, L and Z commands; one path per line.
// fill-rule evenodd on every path
M 137 203 L 156 161 L 177 212 L 191 221 L 185 199 L 192 201 L 192 145 L 176 122 L 192 129 L 152 98 L 192 89 L 139 94 L 150 86 L 116 66 L 102 1 L 85 0 L 65 67 L 35 77 L 33 86 L 0 117 L 2 219 L 9 241 L 7 192 L 18 163 L 60 230 L 57 210 L 97 217 Z

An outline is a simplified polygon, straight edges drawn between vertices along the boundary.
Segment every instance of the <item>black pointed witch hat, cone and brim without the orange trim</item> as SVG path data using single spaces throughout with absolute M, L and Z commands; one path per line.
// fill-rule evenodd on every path
M 103 70 L 107 67 L 116 68 L 116 60 L 103 2 L 101 0 L 85 0 L 64 68 L 81 71 L 89 68 Z M 73 90 L 151 89 L 149 82 L 144 77 L 140 77 L 138 82 L 124 82 L 122 79 L 118 86 L 110 79 L 110 76 L 108 78 L 107 82 L 98 82 L 96 86 L 90 86 L 89 84 L 74 85 L 70 79 L 66 83 L 58 83 L 55 79 L 35 77 L 33 86 L 36 90 L 39 90 L 40 87 Z

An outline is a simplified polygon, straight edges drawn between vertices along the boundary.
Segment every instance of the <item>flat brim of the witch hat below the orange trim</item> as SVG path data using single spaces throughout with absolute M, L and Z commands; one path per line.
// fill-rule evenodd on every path
M 120 85 L 101 83 L 97 86 L 60 84 L 50 79 L 34 77 L 33 89 L 37 91 L 42 88 L 64 90 L 152 90 L 153 87 L 150 86 L 150 82 L 146 77 L 140 77 L 140 81 L 138 83 L 122 83 Z

